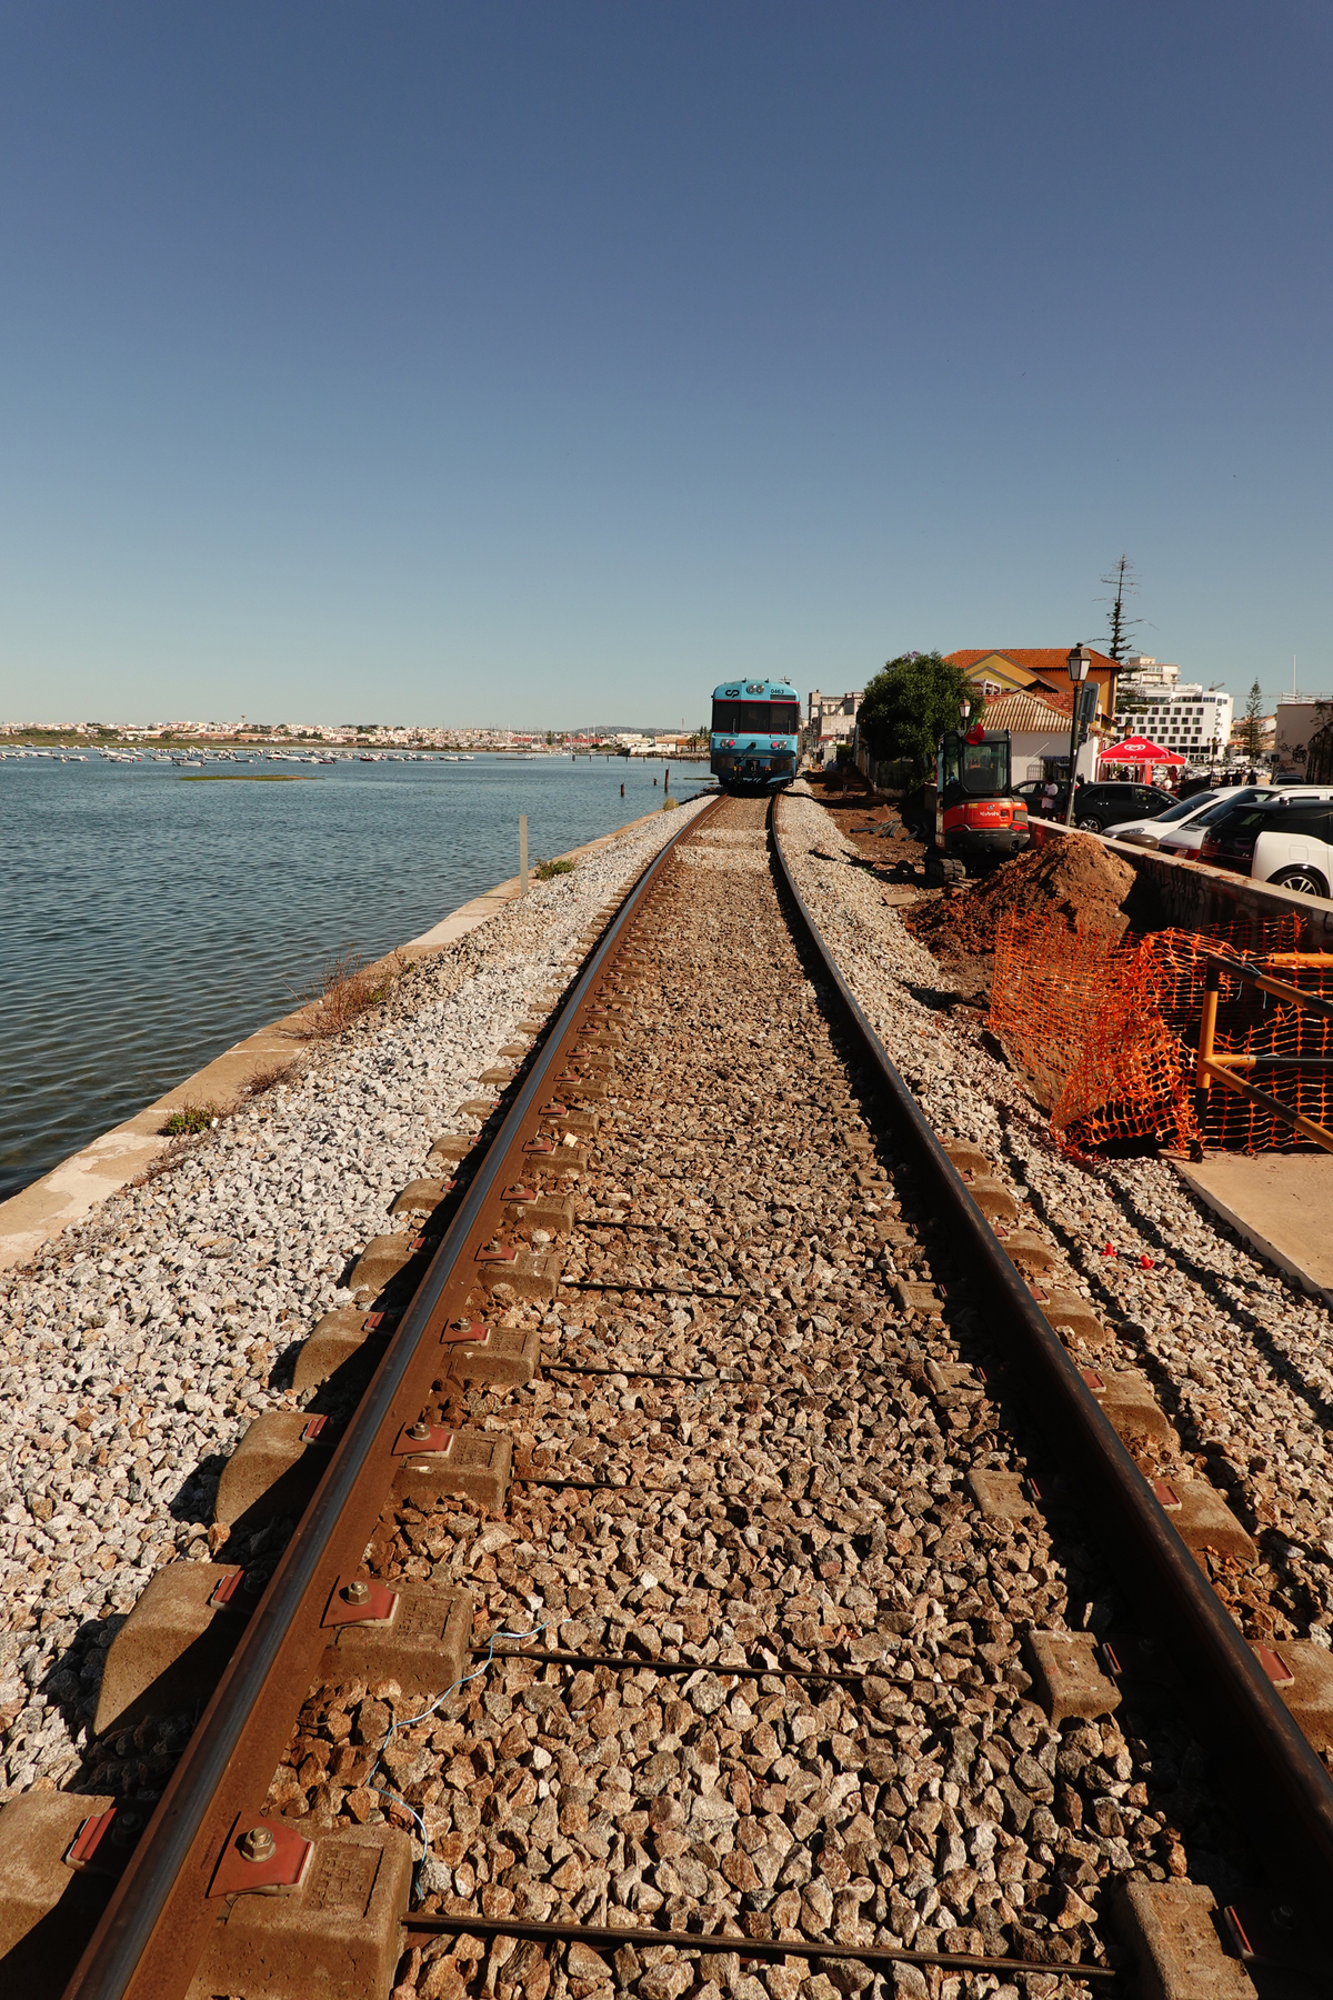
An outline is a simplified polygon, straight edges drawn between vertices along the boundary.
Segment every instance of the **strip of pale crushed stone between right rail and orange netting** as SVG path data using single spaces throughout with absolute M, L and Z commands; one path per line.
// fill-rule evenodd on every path
M 941 1136 L 977 1144 L 1029 1204 L 1075 1288 L 1117 1330 L 1125 1360 L 1153 1380 L 1185 1450 L 1257 1534 L 1291 1634 L 1329 1646 L 1327 1308 L 1197 1204 L 1169 1162 L 1081 1164 L 1061 1154 L 981 1024 L 941 1012 L 947 974 L 857 866 L 831 816 L 799 790 L 779 810 L 799 890 L 925 1116 Z M 1131 1256 L 1103 1256 L 1107 1244 Z M 1141 1254 L 1151 1270 L 1139 1268 Z

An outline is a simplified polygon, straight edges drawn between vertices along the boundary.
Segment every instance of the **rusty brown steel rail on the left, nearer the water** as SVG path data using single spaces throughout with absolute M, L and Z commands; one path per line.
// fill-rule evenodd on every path
M 218 1854 L 238 1814 L 258 1812 L 264 1802 L 324 1646 L 320 1618 L 330 1590 L 346 1568 L 360 1566 L 370 1530 L 384 1508 L 392 1472 L 370 1494 L 368 1468 L 376 1456 L 384 1460 L 384 1468 L 392 1466 L 388 1444 L 400 1422 L 412 1420 L 420 1396 L 406 1418 L 400 1404 L 416 1392 L 414 1378 L 422 1364 L 430 1364 L 432 1374 L 438 1366 L 438 1350 L 428 1342 L 436 1308 L 468 1248 L 486 1242 L 492 1232 L 492 1196 L 498 1198 L 498 1190 L 512 1178 L 510 1156 L 534 1124 L 550 1072 L 568 1060 L 582 1030 L 580 1016 L 608 960 L 620 952 L 626 928 L 675 846 L 709 820 L 717 804 L 687 820 L 642 870 L 576 984 L 558 1004 L 548 1038 L 334 1448 L 324 1478 L 74 1968 L 64 2000 L 168 2000 L 182 1996 L 190 1984 L 216 1916 L 206 1892 Z M 258 1780 L 256 1770 L 262 1772 Z

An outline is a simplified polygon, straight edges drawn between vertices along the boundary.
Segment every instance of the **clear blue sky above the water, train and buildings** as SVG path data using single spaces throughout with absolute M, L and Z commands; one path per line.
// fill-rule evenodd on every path
M 1333 692 L 1333 10 L 0 8 L 0 718 Z

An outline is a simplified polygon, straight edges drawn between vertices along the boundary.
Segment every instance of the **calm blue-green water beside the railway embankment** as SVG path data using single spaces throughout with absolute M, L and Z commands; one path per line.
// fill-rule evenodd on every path
M 340 762 L 302 784 L 0 760 L 0 1198 L 286 1014 L 348 946 L 378 958 L 518 874 L 520 812 L 552 856 L 660 802 L 662 764 L 622 758 Z

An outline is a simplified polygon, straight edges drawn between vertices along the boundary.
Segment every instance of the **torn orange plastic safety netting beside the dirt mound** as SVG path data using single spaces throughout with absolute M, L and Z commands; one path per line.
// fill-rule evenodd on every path
M 1207 960 L 1247 958 L 1301 992 L 1333 998 L 1333 962 L 1293 950 L 1295 920 L 1113 942 L 1059 918 L 1001 918 L 989 1026 L 1027 1072 L 1073 1150 L 1151 1138 L 1239 1152 L 1311 1144 L 1223 1084 L 1195 1104 Z M 1217 1054 L 1261 1060 L 1239 1074 L 1307 1118 L 1333 1118 L 1333 1022 L 1223 976 Z

